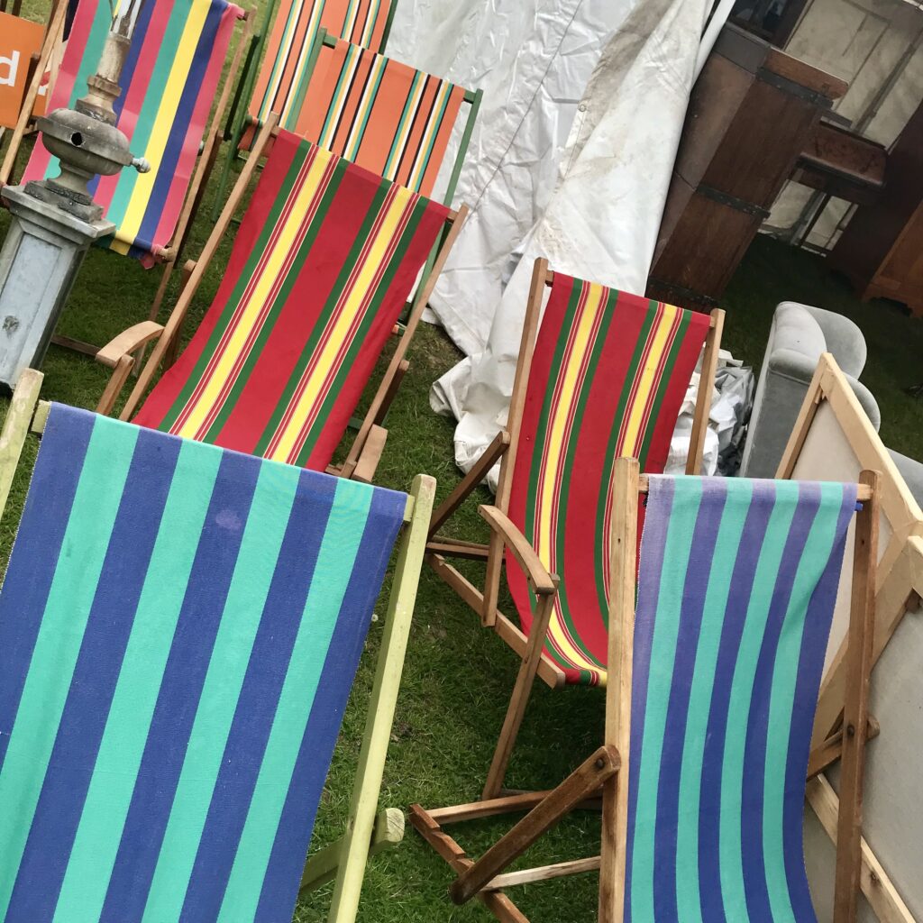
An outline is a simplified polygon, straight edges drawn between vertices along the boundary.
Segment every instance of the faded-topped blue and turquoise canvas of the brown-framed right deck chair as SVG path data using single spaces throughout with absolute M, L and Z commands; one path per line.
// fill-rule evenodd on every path
M 814 923 L 805 776 L 856 486 L 650 483 L 625 919 Z

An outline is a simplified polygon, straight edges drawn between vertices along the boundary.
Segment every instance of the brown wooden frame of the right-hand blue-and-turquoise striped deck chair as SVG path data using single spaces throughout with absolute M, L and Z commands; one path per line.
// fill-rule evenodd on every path
M 638 546 L 638 497 L 646 493 L 648 479 L 639 474 L 634 459 L 618 459 L 613 485 L 612 586 L 609 604 L 608 662 L 617 664 L 617 681 L 605 689 L 603 746 L 597 749 L 567 779 L 546 792 L 528 792 L 502 797 L 485 797 L 471 804 L 427 810 L 411 807 L 411 822 L 426 842 L 446 860 L 457 878 L 450 895 L 456 904 L 480 898 L 503 923 L 528 923 L 505 889 L 598 870 L 599 923 L 621 923 L 623 918 L 628 833 L 629 740 L 631 719 L 631 671 L 635 615 L 636 555 Z M 849 669 L 854 677 L 845 703 L 845 726 L 855 733 L 824 742 L 842 764 L 838 811 L 833 823 L 837 838 L 834 923 L 856 920 L 862 873 L 862 785 L 865 744 L 868 739 L 869 670 L 874 625 L 874 574 L 878 540 L 880 475 L 864 471 L 857 497 L 857 542 L 853 559 L 853 596 L 849 621 Z M 554 583 L 537 558 L 523 559 L 533 590 Z M 547 608 L 541 610 L 549 611 Z M 542 616 L 536 616 L 536 623 Z M 530 643 L 530 648 L 538 649 Z M 516 690 L 528 694 L 536 659 L 523 660 Z M 532 673 L 532 677 L 529 674 Z M 516 712 L 516 692 L 510 701 L 507 722 Z M 524 706 L 524 702 L 522 703 Z M 497 756 L 500 749 L 497 748 Z M 821 751 L 812 751 L 816 764 Z M 602 796 L 602 843 L 600 855 L 584 857 L 537 869 L 506 872 L 504 869 L 571 810 L 587 806 L 588 799 Z M 492 817 L 513 811 L 528 811 L 510 831 L 473 861 L 442 827 L 444 824 Z

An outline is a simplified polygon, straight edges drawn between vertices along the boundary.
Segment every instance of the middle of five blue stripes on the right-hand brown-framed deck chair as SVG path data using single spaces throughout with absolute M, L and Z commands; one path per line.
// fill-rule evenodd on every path
M 725 907 L 721 890 L 719 836 L 721 829 L 721 785 L 725 757 L 727 710 L 731 696 L 737 651 L 753 591 L 753 579 L 766 528 L 773 513 L 773 497 L 754 495 L 740 541 L 731 590 L 727 597 L 721 645 L 714 670 L 714 693 L 708 732 L 702 757 L 699 811 L 699 888 L 703 919 L 735 923 L 745 907 Z M 725 914 L 727 916 L 725 916 Z

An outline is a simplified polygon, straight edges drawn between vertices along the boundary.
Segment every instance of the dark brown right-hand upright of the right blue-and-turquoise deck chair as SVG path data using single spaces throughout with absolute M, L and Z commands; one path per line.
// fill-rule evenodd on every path
M 871 487 L 872 497 L 856 517 L 852 605 L 849 613 L 849 685 L 843 710 L 843 767 L 840 776 L 840 816 L 836 833 L 836 884 L 833 923 L 855 923 L 862 872 L 862 785 L 869 721 L 869 676 L 875 631 L 875 564 L 878 561 L 878 497 L 881 474 L 862 472 L 859 484 Z

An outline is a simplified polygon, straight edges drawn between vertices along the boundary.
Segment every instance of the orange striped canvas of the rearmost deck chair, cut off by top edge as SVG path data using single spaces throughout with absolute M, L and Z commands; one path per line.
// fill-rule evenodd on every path
M 378 52 L 390 10 L 390 0 L 282 0 L 250 100 L 251 121 L 263 125 L 273 112 L 287 125 L 321 29 Z

